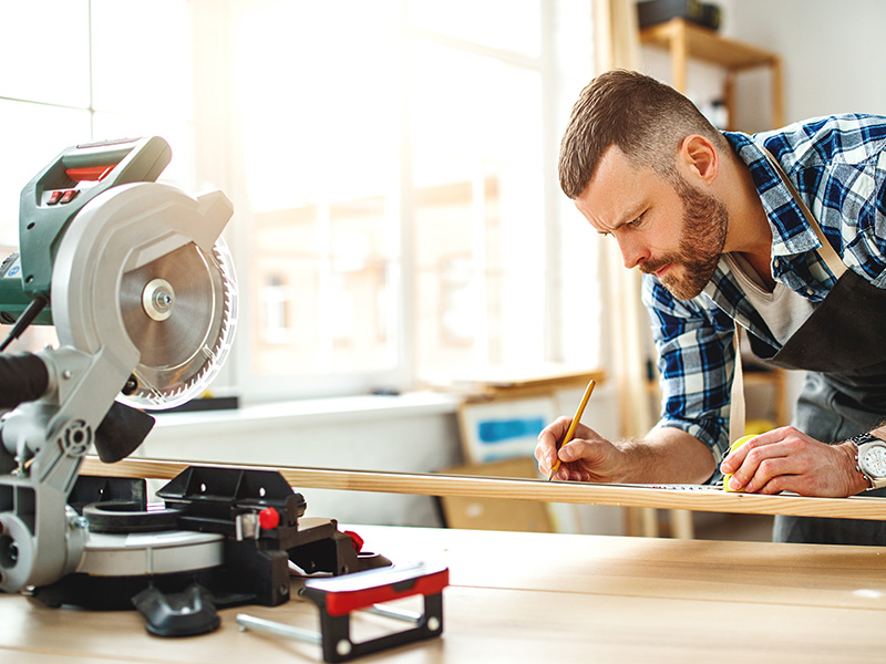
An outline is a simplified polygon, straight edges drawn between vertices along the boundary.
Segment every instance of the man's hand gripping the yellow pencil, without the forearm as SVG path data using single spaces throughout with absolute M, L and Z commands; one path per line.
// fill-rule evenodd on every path
M 557 463 L 557 443 L 566 435 L 571 422 L 570 417 L 560 417 L 538 434 L 535 458 L 543 475 L 548 476 Z M 625 454 L 584 424 L 579 424 L 573 439 L 560 447 L 559 460 L 560 467 L 554 475 L 556 479 L 624 481 Z

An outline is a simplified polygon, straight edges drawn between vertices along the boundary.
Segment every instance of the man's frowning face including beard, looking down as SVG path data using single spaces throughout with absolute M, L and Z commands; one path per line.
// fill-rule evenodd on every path
M 636 169 L 617 147 L 575 204 L 598 232 L 615 236 L 626 268 L 655 274 L 679 300 L 698 295 L 717 269 L 729 227 L 723 204 L 686 180 L 674 187 Z

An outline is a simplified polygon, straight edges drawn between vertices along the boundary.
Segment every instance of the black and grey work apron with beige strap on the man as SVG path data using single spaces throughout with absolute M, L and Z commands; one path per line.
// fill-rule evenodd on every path
M 842 264 L 784 172 L 771 156 L 770 162 L 818 235 L 823 259 L 842 276 L 780 351 L 753 334 L 749 340 L 766 363 L 808 372 L 793 424 L 817 440 L 837 443 L 886 419 L 886 290 Z M 838 267 L 832 267 L 834 257 Z M 886 522 L 776 516 L 773 541 L 886 546 Z

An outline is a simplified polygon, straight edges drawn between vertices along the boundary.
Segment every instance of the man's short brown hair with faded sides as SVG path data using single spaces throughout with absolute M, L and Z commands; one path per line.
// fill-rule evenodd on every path
M 635 167 L 676 181 L 677 148 L 689 135 L 727 151 L 725 137 L 673 87 L 626 70 L 594 79 L 578 97 L 560 143 L 560 188 L 578 198 L 604 153 L 617 145 Z

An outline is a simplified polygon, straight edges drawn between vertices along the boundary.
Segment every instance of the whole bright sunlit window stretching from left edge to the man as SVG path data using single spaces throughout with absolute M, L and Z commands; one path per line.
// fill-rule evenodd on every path
M 62 148 L 158 134 L 164 179 L 235 204 L 241 312 L 220 381 L 247 401 L 595 361 L 596 341 L 557 331 L 575 251 L 560 225 L 579 222 L 560 221 L 554 181 L 557 127 L 591 70 L 588 6 L 16 3 L 0 53 L 29 66 L 0 81 L 0 126 L 17 127 L 0 243 L 18 242 L 18 190 Z M 560 53 L 569 40 L 579 51 Z

